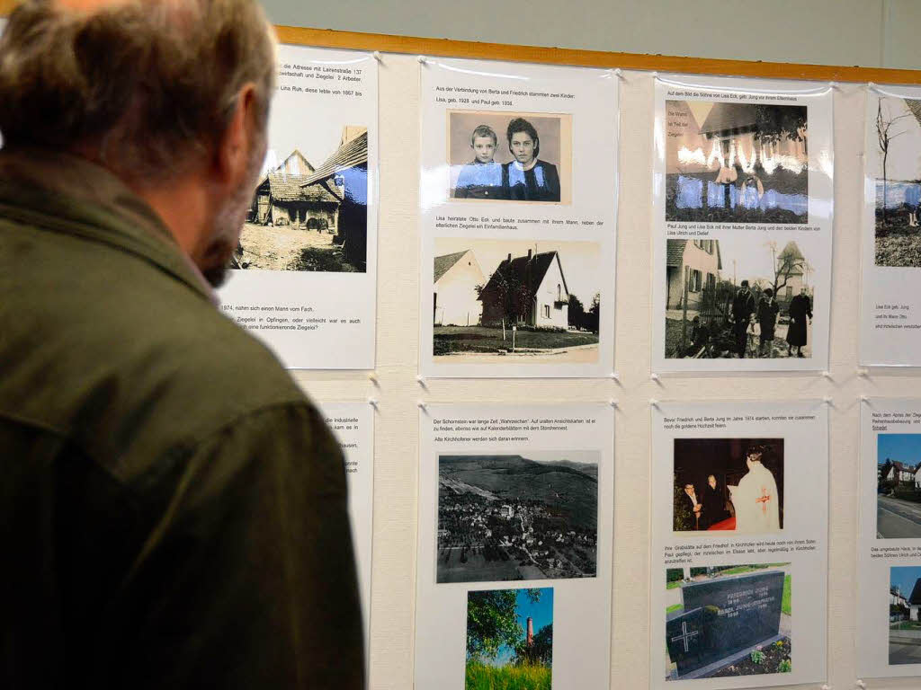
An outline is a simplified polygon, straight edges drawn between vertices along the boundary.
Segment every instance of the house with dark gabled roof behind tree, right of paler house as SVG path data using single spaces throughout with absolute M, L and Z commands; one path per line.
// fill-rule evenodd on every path
M 486 326 L 569 328 L 569 289 L 559 252 L 547 251 L 512 258 L 495 268 L 483 291 Z

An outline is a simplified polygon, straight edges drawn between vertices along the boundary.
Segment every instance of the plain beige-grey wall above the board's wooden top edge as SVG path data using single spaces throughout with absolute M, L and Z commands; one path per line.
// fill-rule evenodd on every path
M 263 0 L 276 24 L 599 51 L 921 67 L 916 0 Z M 563 18 L 565 15 L 565 19 Z

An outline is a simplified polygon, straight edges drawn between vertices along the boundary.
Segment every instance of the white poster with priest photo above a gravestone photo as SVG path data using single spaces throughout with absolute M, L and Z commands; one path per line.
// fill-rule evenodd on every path
M 828 410 L 652 410 L 650 687 L 826 678 Z

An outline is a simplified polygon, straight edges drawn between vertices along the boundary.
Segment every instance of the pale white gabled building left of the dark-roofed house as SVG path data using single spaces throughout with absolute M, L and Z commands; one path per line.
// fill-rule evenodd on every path
M 436 326 L 476 326 L 483 316 L 477 288 L 486 282 L 472 249 L 435 258 L 433 323 Z

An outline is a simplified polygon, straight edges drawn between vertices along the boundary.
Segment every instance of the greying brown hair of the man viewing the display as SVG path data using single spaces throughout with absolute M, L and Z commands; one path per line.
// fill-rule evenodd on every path
M 255 0 L 26 0 L 0 37 L 0 134 L 157 181 L 205 160 L 248 83 L 264 129 L 275 53 Z

